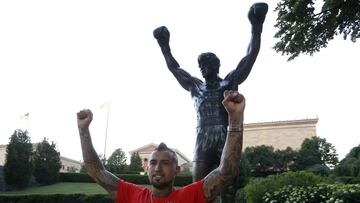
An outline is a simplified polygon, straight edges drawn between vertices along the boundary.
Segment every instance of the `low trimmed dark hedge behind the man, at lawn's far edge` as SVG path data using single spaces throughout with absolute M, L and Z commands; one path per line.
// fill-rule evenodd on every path
M 147 175 L 139 174 L 119 174 L 117 177 L 124 181 L 138 184 L 149 185 L 149 178 Z M 94 182 L 94 180 L 87 173 L 60 173 L 60 182 Z M 185 186 L 192 182 L 191 175 L 179 175 L 175 178 L 175 186 Z

